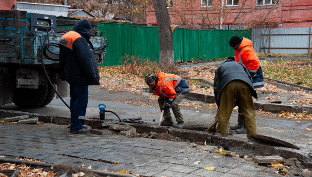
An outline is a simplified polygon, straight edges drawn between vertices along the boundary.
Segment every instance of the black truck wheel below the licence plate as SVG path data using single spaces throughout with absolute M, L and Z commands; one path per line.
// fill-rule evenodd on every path
M 47 96 L 47 82 L 38 86 L 38 89 L 16 89 L 14 101 L 21 108 L 36 108 L 42 105 Z

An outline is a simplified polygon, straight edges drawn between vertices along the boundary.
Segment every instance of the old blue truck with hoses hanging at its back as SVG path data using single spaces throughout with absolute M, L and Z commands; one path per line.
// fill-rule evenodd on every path
M 60 20 L 60 24 L 74 25 L 77 20 Z M 99 22 L 90 23 L 94 28 Z M 46 106 L 56 91 L 58 98 L 67 97 L 67 82 L 60 77 L 57 43 L 69 30 L 57 28 L 56 16 L 0 10 L 0 106 Z M 102 63 L 106 38 L 98 36 L 98 30 L 92 29 L 91 33 L 97 61 Z

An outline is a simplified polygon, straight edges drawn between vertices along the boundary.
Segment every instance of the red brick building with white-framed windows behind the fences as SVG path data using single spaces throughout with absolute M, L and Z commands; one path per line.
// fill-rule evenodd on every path
M 312 0 L 166 0 L 171 23 L 236 28 L 312 27 Z M 223 2 L 222 2 L 223 1 Z M 146 11 L 146 23 L 157 25 Z

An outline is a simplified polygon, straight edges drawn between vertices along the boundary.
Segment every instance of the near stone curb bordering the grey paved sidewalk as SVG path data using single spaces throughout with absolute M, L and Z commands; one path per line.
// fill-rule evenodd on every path
M 7 110 L 0 109 L 0 116 L 8 117 L 8 115 L 17 116 L 17 115 L 25 115 L 25 113 L 22 114 L 22 112 L 20 111 L 7 111 Z M 45 123 L 57 123 L 60 125 L 68 125 L 68 122 L 70 122 L 70 118 L 66 118 L 66 117 L 51 117 L 51 116 L 44 116 L 41 114 L 32 114 L 32 113 L 28 113 L 27 115 L 36 115 L 38 116 L 39 121 L 42 121 L 42 122 L 44 122 L 45 120 L 48 120 Z M 53 120 L 53 122 L 51 122 L 50 120 Z M 88 119 L 88 118 L 86 118 L 85 120 L 85 124 L 87 125 L 98 124 L 98 122 L 102 122 L 102 121 L 98 119 Z M 276 147 L 276 146 L 259 143 L 256 141 L 242 139 L 239 137 L 233 137 L 233 136 L 223 135 L 223 134 L 214 134 L 211 132 L 179 129 L 179 128 L 149 125 L 149 124 L 138 124 L 138 123 L 121 123 L 120 122 L 120 124 L 133 126 L 134 128 L 136 128 L 137 132 L 140 134 L 142 134 L 143 132 L 149 133 L 150 131 L 157 132 L 158 134 L 167 133 L 174 137 L 180 138 L 182 140 L 188 140 L 190 142 L 200 142 L 200 144 L 204 144 L 204 142 L 206 142 L 207 145 L 222 146 L 231 151 L 235 151 L 235 150 L 244 151 L 246 152 L 246 154 L 256 153 L 257 155 L 278 155 L 285 159 L 295 157 L 300 162 L 305 164 L 306 166 L 312 166 L 312 163 L 310 162 L 311 154 L 309 152 L 304 152 L 304 151 L 295 150 L 291 148 Z M 0 158 L 0 160 L 1 159 L 3 158 Z

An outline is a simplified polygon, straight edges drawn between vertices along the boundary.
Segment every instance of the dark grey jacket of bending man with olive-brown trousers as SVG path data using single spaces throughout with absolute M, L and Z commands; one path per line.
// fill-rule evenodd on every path
M 217 69 L 214 79 L 214 93 L 216 103 L 219 106 L 219 98 L 223 88 L 232 80 L 242 80 L 248 83 L 251 96 L 257 99 L 257 94 L 252 86 L 252 78 L 246 67 L 233 60 L 226 60 Z

